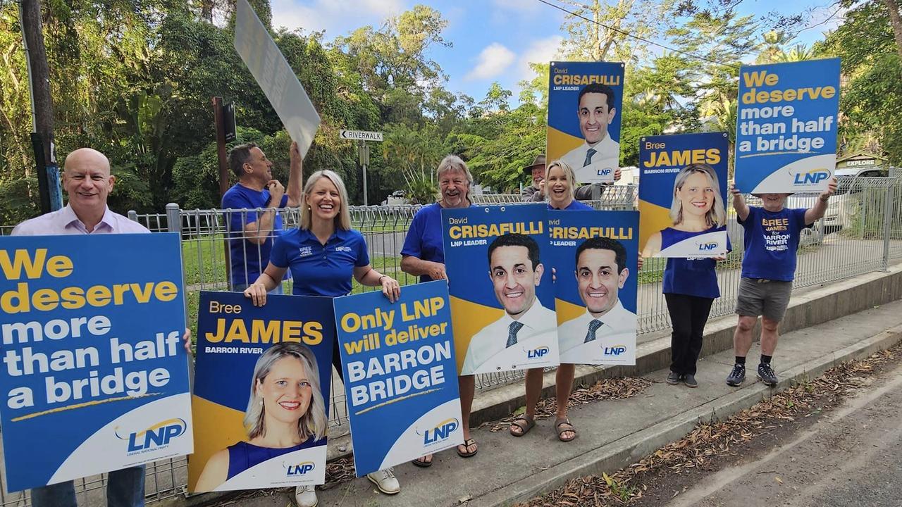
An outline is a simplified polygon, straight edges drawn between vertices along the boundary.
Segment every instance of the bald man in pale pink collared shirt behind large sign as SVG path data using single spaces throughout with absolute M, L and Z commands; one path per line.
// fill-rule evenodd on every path
M 62 185 L 69 204 L 15 226 L 12 235 L 97 235 L 150 233 L 106 207 L 115 176 L 106 156 L 90 148 L 69 153 L 63 163 Z M 185 350 L 191 353 L 191 335 L 185 329 Z M 110 507 L 141 507 L 144 504 L 144 466 L 109 473 L 106 503 Z M 33 507 L 78 507 L 72 481 L 32 489 Z

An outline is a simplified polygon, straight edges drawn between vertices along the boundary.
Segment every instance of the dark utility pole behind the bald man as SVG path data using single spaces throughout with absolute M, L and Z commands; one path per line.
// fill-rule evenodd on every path
M 62 193 L 56 146 L 53 143 L 50 68 L 44 48 L 40 1 L 21 0 L 19 17 L 32 95 L 32 149 L 38 176 L 38 193 L 41 213 L 48 213 L 62 207 Z

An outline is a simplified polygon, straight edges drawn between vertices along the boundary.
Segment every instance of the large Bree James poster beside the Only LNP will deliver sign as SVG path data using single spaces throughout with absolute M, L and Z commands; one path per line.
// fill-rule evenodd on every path
M 332 299 L 201 292 L 191 492 L 326 482 Z

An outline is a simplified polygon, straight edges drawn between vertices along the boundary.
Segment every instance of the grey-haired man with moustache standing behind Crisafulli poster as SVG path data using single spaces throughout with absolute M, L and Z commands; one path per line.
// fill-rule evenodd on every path
M 403 272 L 419 276 L 419 281 L 446 280 L 445 245 L 442 243 L 442 209 L 470 207 L 470 185 L 473 175 L 466 163 L 456 155 L 448 155 L 438 164 L 438 190 L 441 198 L 438 202 L 419 208 L 417 215 L 410 222 L 404 246 L 400 250 L 400 269 Z M 473 397 L 476 391 L 474 375 L 457 377 L 460 389 L 460 409 L 463 419 L 464 443 L 457 446 L 457 454 L 461 457 L 475 456 L 479 447 L 470 438 L 470 410 L 473 408 Z M 421 456 L 412 461 L 416 466 L 432 465 L 432 455 Z

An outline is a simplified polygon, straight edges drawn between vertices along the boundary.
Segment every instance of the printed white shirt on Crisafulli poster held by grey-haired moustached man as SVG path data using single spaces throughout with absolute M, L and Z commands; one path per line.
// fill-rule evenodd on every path
M 502 318 L 483 327 L 466 349 L 461 374 L 504 372 L 524 368 L 553 366 L 557 363 L 557 320 L 554 310 L 537 299 L 519 319 L 523 327 L 517 332 L 517 344 L 508 347 L 508 331 L 513 318 Z M 544 349 L 548 350 L 544 350 Z

